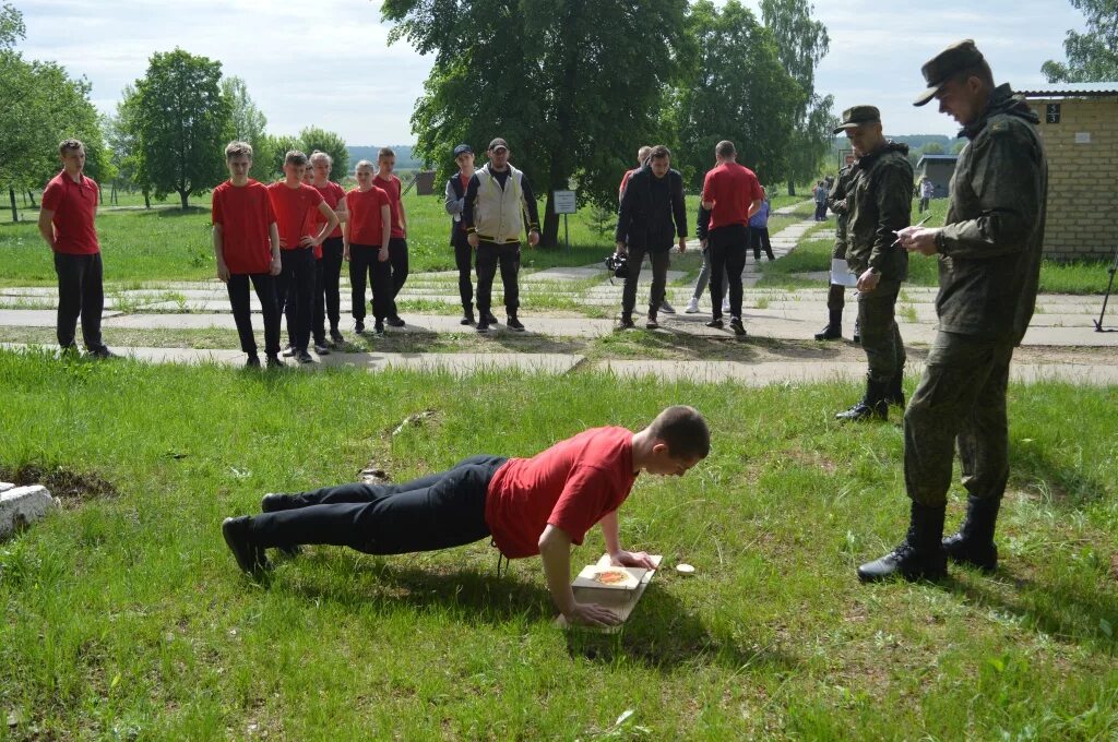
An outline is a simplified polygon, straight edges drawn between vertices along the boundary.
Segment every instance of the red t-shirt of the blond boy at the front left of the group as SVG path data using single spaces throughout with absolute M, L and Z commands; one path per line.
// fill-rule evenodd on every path
M 227 180 L 214 189 L 211 201 L 211 218 L 221 225 L 221 255 L 229 273 L 267 273 L 272 267 L 268 227 L 276 220 L 267 187 L 255 180 L 238 187 Z

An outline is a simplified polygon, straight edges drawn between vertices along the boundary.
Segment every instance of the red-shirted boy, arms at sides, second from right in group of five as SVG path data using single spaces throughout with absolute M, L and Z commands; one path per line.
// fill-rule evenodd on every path
M 364 332 L 364 280 L 372 286 L 372 316 L 377 334 L 385 332 L 385 318 L 391 311 L 392 277 L 389 273 L 388 244 L 392 234 L 391 201 L 388 193 L 373 185 L 372 163 L 362 160 L 353 169 L 357 188 L 345 194 L 349 219 L 342 225 L 343 255 L 350 264 L 353 291 L 353 327 Z

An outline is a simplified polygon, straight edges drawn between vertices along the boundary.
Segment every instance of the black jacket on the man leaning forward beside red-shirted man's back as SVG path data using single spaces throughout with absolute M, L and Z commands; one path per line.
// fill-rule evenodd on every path
M 676 237 L 688 234 L 683 177 L 676 170 L 669 170 L 664 175 L 667 188 L 659 191 L 660 198 L 652 187 L 654 178 L 647 164 L 629 177 L 622 196 L 615 239 L 635 249 L 666 253 Z

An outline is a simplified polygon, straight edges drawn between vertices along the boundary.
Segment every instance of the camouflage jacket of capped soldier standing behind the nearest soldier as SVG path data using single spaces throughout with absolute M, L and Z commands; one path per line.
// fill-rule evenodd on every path
M 894 242 L 910 223 L 912 189 L 908 144 L 887 141 L 859 158 L 846 194 L 846 261 L 855 273 L 875 268 L 884 282 L 908 278 L 908 253 Z

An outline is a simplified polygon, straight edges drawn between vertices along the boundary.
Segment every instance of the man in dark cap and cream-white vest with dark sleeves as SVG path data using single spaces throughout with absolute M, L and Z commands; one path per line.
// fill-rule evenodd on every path
M 490 142 L 490 161 L 474 173 L 466 187 L 462 220 L 467 240 L 477 250 L 477 332 L 489 332 L 496 317 L 490 311 L 493 278 L 498 264 L 504 285 L 504 307 L 509 329 L 523 331 L 517 318 L 520 306 L 520 236 L 528 215 L 528 244 L 540 241 L 540 219 L 536 196 L 528 177 L 509 164 L 509 143 L 498 137 Z

